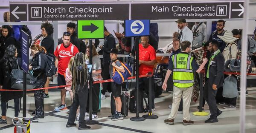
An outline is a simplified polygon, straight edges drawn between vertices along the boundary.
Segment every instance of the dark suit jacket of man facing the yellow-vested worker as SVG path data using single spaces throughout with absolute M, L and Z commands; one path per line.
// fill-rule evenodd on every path
M 224 56 L 220 52 L 212 60 L 212 65 L 209 66 L 209 79 L 207 82 L 211 85 L 217 85 L 217 88 L 221 87 L 224 82 L 224 61 Z

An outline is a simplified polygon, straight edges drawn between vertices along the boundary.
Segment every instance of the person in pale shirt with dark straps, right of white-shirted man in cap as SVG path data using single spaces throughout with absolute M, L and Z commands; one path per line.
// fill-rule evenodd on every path
M 195 22 L 192 27 L 193 33 L 193 50 L 202 47 L 202 44 L 206 42 L 206 25 L 204 22 Z

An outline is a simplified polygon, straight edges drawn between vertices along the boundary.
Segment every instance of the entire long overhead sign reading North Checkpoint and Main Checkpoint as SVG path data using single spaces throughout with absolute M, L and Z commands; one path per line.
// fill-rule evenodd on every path
M 166 20 L 242 18 L 243 1 L 12 2 L 11 20 Z

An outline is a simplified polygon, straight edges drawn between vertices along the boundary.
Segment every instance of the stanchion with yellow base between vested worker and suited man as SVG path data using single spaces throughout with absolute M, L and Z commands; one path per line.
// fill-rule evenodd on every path
M 208 116 L 208 112 L 203 111 L 203 78 L 204 78 L 204 71 L 200 72 L 200 90 L 199 90 L 199 111 L 193 112 L 194 116 Z

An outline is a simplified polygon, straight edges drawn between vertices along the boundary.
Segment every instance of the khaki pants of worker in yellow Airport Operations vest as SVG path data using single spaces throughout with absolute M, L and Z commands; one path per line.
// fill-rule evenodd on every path
M 177 88 L 173 87 L 173 98 L 172 98 L 172 110 L 168 116 L 168 119 L 175 119 L 178 113 L 178 108 L 180 105 L 180 100 L 182 96 L 183 100 L 183 120 L 189 121 L 189 107 L 192 97 L 193 87 L 189 88 Z

